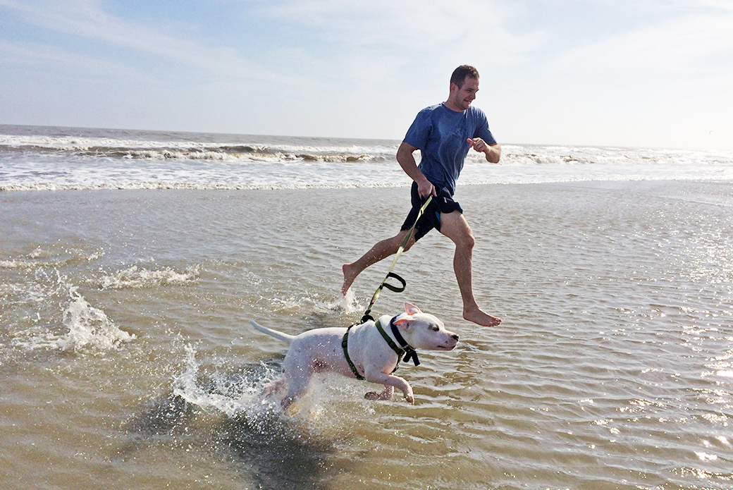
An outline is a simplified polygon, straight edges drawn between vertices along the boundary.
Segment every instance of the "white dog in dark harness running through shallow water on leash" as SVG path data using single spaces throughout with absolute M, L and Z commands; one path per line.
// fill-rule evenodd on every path
M 308 390 L 312 374 L 323 371 L 383 384 L 383 392 L 367 393 L 371 400 L 388 400 L 398 388 L 409 403 L 414 403 L 410 384 L 392 374 L 400 357 L 407 354 L 405 360 L 413 357 L 418 365 L 416 349 L 450 351 L 458 343 L 458 335 L 447 331 L 442 321 L 410 303 L 405 303 L 405 312 L 394 318 L 383 315 L 376 322 L 348 329 L 329 327 L 288 335 L 251 323 L 260 332 L 290 343 L 284 361 L 287 395 L 281 404 L 285 409 Z

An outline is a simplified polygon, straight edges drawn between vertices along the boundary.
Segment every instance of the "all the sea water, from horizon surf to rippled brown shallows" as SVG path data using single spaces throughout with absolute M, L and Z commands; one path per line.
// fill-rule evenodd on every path
M 460 334 L 369 401 L 262 388 L 290 334 L 358 321 L 410 207 L 397 141 L 0 125 L 1 489 L 733 488 L 733 152 L 503 144 L 476 236 L 399 258 Z

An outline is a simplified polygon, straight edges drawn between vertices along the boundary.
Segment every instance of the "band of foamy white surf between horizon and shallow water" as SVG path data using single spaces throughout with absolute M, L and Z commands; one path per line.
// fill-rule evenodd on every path
M 5 127 L 7 130 L 7 126 Z M 17 128 L 17 127 L 16 127 Z M 1 191 L 408 186 L 397 142 L 85 130 L 0 135 Z M 196 136 L 196 137 L 194 137 Z M 733 151 L 503 145 L 470 151 L 460 183 L 733 181 Z M 416 153 L 419 160 L 419 153 Z

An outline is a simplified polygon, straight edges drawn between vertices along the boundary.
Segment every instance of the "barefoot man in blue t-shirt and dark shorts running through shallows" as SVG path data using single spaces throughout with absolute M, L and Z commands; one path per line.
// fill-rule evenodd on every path
M 474 234 L 463 216 L 463 209 L 453 200 L 456 180 L 469 149 L 485 153 L 486 160 L 493 164 L 501 158 L 501 147 L 489 131 L 486 115 L 481 109 L 471 106 L 478 91 L 479 73 L 476 68 L 468 65 L 457 67 L 451 76 L 448 100 L 423 109 L 415 118 L 397 150 L 399 166 L 413 180 L 413 208 L 397 235 L 378 242 L 356 262 L 343 266 L 344 295 L 361 271 L 397 253 L 419 209 L 432 196 L 432 202 L 417 223 L 405 250 L 432 228 L 450 238 L 456 246 L 453 270 L 463 298 L 463 318 L 482 326 L 501 323 L 500 318 L 481 310 L 474 299 L 471 278 Z M 421 150 L 419 167 L 413 158 L 415 150 Z

